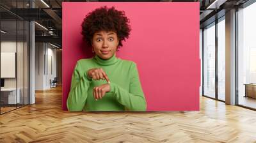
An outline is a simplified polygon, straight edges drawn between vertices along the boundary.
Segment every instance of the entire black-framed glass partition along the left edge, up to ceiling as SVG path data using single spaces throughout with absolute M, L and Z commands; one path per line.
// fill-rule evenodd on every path
M 29 103 L 29 22 L 15 15 L 28 1 L 0 1 L 0 114 Z

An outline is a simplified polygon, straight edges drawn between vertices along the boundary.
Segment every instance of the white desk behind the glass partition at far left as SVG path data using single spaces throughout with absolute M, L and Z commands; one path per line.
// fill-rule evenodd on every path
M 16 88 L 1 89 L 1 102 L 4 102 L 4 104 L 20 103 L 20 89 L 17 88 L 17 91 L 18 94 L 16 98 Z

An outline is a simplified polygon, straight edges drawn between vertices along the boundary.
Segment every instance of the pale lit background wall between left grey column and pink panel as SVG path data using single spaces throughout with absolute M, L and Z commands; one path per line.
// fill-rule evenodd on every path
M 36 43 L 36 90 L 51 88 L 50 79 L 56 77 L 56 49 L 53 48 L 49 43 Z

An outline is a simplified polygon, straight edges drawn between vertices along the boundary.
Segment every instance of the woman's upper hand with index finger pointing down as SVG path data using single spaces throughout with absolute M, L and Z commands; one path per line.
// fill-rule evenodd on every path
M 108 75 L 104 72 L 104 70 L 102 68 L 92 68 L 92 69 L 88 70 L 87 76 L 93 80 L 102 79 L 102 80 L 107 80 L 107 82 L 110 83 L 110 81 L 108 79 Z

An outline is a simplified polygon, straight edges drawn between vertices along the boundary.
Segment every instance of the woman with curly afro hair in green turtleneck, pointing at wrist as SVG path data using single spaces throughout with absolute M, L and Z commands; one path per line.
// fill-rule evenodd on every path
M 116 57 L 129 38 L 129 20 L 114 7 L 97 8 L 84 18 L 82 34 L 94 57 L 80 59 L 72 75 L 70 111 L 146 110 L 136 64 Z

